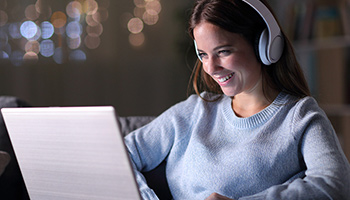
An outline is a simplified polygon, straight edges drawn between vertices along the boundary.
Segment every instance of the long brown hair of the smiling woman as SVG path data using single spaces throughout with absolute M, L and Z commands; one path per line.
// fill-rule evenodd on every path
M 272 12 L 265 0 L 261 2 Z M 257 38 L 266 28 L 266 24 L 259 13 L 247 3 L 242 0 L 198 0 L 193 8 L 188 28 L 188 33 L 193 39 L 194 28 L 203 21 L 242 35 L 254 46 L 256 56 L 260 60 L 257 52 Z M 269 66 L 262 64 L 263 92 L 267 96 L 268 89 L 274 88 L 299 98 L 310 96 L 309 87 L 293 47 L 283 31 L 282 34 L 285 45 L 281 58 Z M 193 88 L 199 96 L 203 91 L 223 94 L 220 86 L 204 72 L 199 60 L 195 64 L 191 79 Z

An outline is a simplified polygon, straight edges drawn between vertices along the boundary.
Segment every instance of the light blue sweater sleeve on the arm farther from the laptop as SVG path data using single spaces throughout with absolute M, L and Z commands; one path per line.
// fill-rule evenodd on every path
M 240 199 L 350 199 L 350 166 L 325 113 L 313 98 L 300 100 L 291 123 L 305 175 Z

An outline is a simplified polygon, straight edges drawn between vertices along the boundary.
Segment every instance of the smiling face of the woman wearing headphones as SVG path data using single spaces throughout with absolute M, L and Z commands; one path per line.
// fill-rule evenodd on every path
M 261 64 L 253 46 L 241 35 L 208 22 L 193 30 L 203 69 L 227 96 L 261 89 Z

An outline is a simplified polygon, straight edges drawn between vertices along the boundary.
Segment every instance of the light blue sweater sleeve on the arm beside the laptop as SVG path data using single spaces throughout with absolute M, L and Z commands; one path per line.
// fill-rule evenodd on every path
M 195 99 L 189 98 L 171 107 L 146 126 L 137 129 L 125 137 L 125 144 L 133 164 L 136 181 L 143 199 L 158 199 L 147 185 L 141 172 L 156 168 L 167 159 L 174 143 L 181 139 L 190 125 L 189 115 Z

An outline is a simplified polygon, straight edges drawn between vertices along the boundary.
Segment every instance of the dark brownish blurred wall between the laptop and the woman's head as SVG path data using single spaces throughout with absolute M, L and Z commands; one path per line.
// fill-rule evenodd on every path
M 67 4 L 48 2 L 58 9 Z M 188 1 L 162 1 L 159 22 L 144 28 L 143 46 L 133 47 L 122 23 L 133 1 L 111 0 L 101 45 L 87 51 L 84 63 L 56 64 L 43 57 L 22 66 L 2 61 L 0 95 L 18 96 L 34 106 L 113 105 L 123 116 L 158 115 L 187 97 L 194 62 L 186 33 L 189 7 Z

